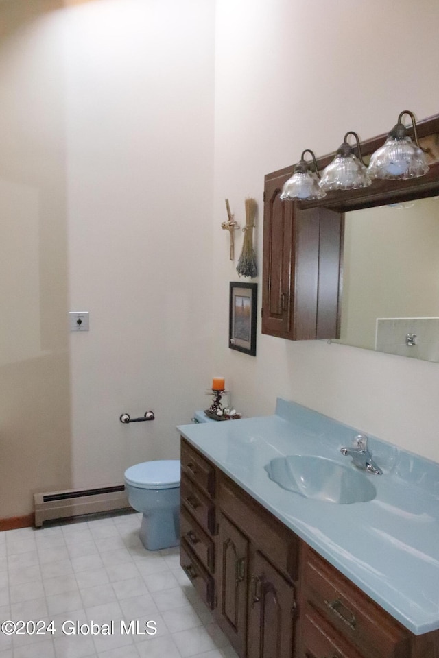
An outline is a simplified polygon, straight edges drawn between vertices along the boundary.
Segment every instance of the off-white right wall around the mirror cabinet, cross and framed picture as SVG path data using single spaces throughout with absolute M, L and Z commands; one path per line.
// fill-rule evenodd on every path
M 227 349 L 226 286 L 237 273 L 219 224 L 224 197 L 242 218 L 244 198 L 254 196 L 261 263 L 265 173 L 296 162 L 305 148 L 318 156 L 335 150 L 348 130 L 362 139 L 390 130 L 401 110 L 419 119 L 438 112 L 438 20 L 432 0 L 397 7 L 377 0 L 217 0 L 213 217 L 224 299 L 215 364 L 234 406 L 248 415 L 272 413 L 280 395 L 436 461 L 437 364 L 292 343 L 260 329 L 256 358 Z

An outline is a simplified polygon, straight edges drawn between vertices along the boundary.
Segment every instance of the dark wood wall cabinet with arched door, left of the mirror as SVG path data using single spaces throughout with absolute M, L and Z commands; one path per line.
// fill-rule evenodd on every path
M 265 176 L 262 333 L 296 341 L 335 339 L 344 215 L 281 201 L 286 178 Z

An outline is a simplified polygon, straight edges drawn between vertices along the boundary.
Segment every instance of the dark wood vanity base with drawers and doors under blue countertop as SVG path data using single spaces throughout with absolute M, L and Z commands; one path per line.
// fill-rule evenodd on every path
M 182 568 L 241 658 L 438 658 L 182 438 Z

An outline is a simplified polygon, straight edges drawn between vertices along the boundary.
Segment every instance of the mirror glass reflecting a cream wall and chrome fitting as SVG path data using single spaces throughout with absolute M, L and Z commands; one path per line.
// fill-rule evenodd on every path
M 336 342 L 439 361 L 439 198 L 346 212 L 343 261 Z

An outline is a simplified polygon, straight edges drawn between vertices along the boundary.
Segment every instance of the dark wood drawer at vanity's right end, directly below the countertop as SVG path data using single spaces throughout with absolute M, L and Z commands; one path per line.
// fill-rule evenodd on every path
M 409 631 L 308 546 L 302 584 L 305 602 L 361 653 L 383 658 L 407 655 Z

